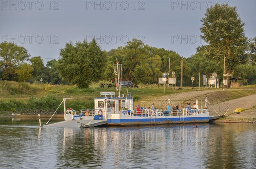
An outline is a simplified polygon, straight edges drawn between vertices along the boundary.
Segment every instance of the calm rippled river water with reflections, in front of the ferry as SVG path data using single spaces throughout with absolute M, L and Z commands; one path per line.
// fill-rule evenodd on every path
M 255 124 L 80 129 L 0 118 L 1 169 L 255 167 Z

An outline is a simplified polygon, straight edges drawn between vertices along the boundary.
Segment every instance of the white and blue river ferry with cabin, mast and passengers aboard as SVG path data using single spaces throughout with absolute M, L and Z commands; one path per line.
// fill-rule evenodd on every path
M 140 107 L 134 110 L 134 98 L 128 95 L 120 95 L 122 65 L 114 64 L 116 90 L 115 92 L 101 92 L 99 98 L 94 99 L 94 109 L 84 109 L 79 112 L 66 110 L 64 102 L 64 121 L 73 121 L 68 124 L 57 123 L 55 126 L 70 127 L 95 127 L 99 125 L 152 125 L 152 124 L 184 124 L 184 123 L 206 123 L 209 121 L 208 109 L 172 109 L 170 112 Z M 206 101 L 207 102 L 207 101 Z M 167 102 L 166 102 L 167 103 Z M 169 100 L 170 103 L 170 100 Z M 198 105 L 197 105 L 198 107 Z M 49 122 L 49 121 L 48 121 Z M 48 124 L 47 122 L 47 124 Z M 61 125 L 58 125 L 61 124 Z M 54 125 L 52 125 L 54 126 Z

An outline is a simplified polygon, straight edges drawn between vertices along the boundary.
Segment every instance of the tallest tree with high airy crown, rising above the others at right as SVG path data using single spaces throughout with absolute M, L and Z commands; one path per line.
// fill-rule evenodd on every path
M 245 59 L 247 37 L 244 34 L 244 23 L 241 21 L 236 7 L 227 4 L 215 4 L 207 8 L 205 17 L 201 19 L 200 28 L 204 39 L 209 45 L 205 55 L 223 65 L 226 56 L 226 68 L 233 70 L 239 61 Z M 218 55 L 223 54 L 223 55 Z

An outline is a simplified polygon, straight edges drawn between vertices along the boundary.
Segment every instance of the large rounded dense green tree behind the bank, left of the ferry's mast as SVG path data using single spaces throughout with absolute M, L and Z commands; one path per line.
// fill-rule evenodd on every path
M 90 43 L 66 43 L 60 50 L 58 70 L 60 75 L 69 84 L 76 84 L 80 88 L 89 87 L 91 82 L 98 82 L 103 75 L 106 54 L 96 40 Z

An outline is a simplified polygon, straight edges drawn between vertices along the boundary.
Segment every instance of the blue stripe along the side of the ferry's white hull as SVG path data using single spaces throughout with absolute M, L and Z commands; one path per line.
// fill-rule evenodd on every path
M 163 122 L 163 121 L 174 121 L 178 122 L 180 121 L 181 123 L 186 122 L 186 121 L 209 121 L 209 117 L 186 117 L 183 119 L 183 117 L 180 118 L 141 118 L 141 119 L 108 119 L 109 124 L 122 124 L 122 123 L 137 123 L 137 122 Z

